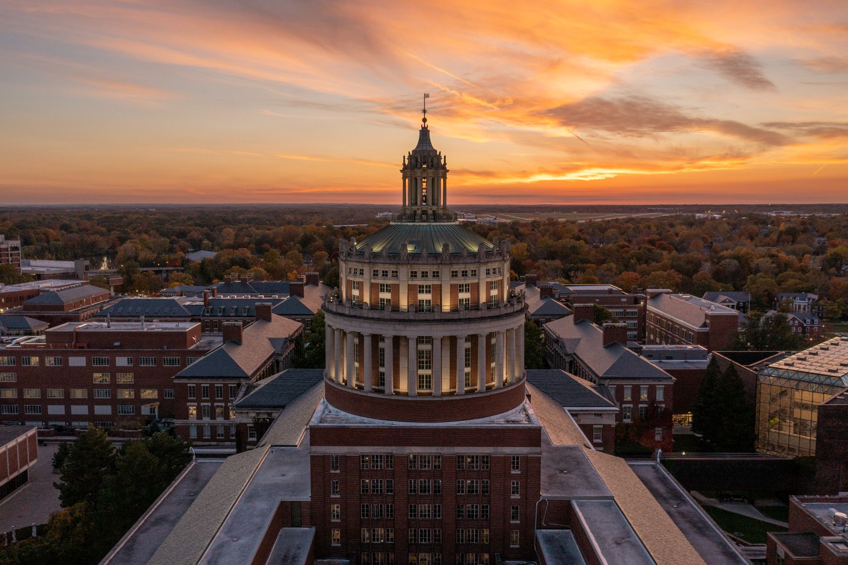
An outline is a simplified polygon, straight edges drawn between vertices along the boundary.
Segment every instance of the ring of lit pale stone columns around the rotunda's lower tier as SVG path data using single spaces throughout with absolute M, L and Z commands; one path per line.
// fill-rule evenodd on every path
M 365 392 L 382 389 L 387 396 L 463 395 L 513 385 L 524 375 L 523 324 L 470 335 L 366 334 L 326 324 L 325 335 L 326 378 Z M 395 337 L 400 338 L 397 355 Z M 378 354 L 382 350 L 382 363 L 379 360 L 375 363 L 375 341 L 380 344 Z M 455 367 L 449 366 L 451 347 L 455 348 Z M 466 349 L 473 351 L 475 348 L 477 363 L 471 363 L 470 359 L 466 360 Z M 396 357 L 397 384 L 394 382 Z M 469 374 L 473 365 L 476 365 L 476 374 Z M 381 373 L 384 384 L 380 382 Z M 452 374 L 454 386 L 450 382 Z M 467 382 L 466 374 L 469 376 Z

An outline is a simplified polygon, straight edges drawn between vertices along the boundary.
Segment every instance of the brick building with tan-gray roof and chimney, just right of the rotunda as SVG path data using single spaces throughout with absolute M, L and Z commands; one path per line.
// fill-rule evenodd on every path
M 674 378 L 628 349 L 627 326 L 592 322 L 592 304 L 574 304 L 574 314 L 544 326 L 548 363 L 592 383 L 605 385 L 621 409 L 616 421 L 656 419 L 640 442 L 671 451 Z

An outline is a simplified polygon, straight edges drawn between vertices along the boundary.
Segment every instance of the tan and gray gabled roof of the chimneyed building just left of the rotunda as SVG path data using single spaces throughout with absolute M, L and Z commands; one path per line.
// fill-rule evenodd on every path
M 248 379 L 265 365 L 279 346 L 279 339 L 291 337 L 302 324 L 282 316 L 271 322 L 258 319 L 242 330 L 242 343 L 227 341 L 214 352 L 198 359 L 176 374 L 175 379 L 220 377 Z

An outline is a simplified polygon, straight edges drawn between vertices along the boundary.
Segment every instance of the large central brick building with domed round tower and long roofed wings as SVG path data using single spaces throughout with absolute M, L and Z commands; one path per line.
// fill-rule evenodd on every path
M 237 421 L 265 433 L 211 478 L 193 463 L 104 562 L 744 564 L 661 466 L 600 451 L 606 389 L 527 382 L 509 243 L 455 221 L 426 119 L 401 170 L 394 221 L 339 246 L 326 368 L 246 385 Z

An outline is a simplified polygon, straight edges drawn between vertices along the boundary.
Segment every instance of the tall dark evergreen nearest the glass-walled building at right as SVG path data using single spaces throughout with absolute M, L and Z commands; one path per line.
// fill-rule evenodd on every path
M 745 395 L 745 384 L 733 363 L 716 384 L 717 434 L 711 438 L 717 451 L 743 453 L 754 449 L 754 406 Z

